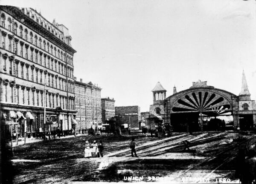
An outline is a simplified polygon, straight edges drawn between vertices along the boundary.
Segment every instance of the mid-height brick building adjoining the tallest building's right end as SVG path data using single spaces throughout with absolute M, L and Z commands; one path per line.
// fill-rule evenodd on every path
M 80 79 L 80 82 L 76 81 L 75 77 L 78 129 L 102 128 L 101 90 L 98 85 L 93 85 L 92 82 L 84 83 L 82 79 Z

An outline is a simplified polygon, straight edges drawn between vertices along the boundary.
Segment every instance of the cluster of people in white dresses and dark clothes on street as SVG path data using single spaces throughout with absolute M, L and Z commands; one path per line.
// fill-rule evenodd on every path
M 91 158 L 91 157 L 103 157 L 103 143 L 102 140 L 99 141 L 99 144 L 97 141 L 93 141 L 91 144 L 89 141 L 85 142 L 85 149 L 84 149 L 84 157 L 85 158 Z

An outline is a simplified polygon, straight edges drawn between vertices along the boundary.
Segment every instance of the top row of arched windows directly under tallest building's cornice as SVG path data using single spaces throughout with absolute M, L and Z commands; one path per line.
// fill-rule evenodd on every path
M 1 14 L 1 25 L 5 28 L 5 15 Z M 24 40 L 30 42 L 31 44 L 35 45 L 36 47 L 39 47 L 43 49 L 44 51 L 47 51 L 49 54 L 52 54 L 52 56 L 58 57 L 58 59 L 61 59 L 62 61 L 66 62 L 70 65 L 73 65 L 73 57 L 69 56 L 67 54 L 67 57 L 65 57 L 64 51 L 57 50 L 55 46 L 50 45 L 49 42 L 46 40 L 43 40 L 41 37 L 38 37 L 36 34 L 33 35 L 32 31 L 30 33 L 28 32 L 27 28 L 24 29 L 22 25 L 19 27 L 19 35 L 17 34 L 17 23 L 12 23 L 11 18 L 8 18 L 8 30 L 12 31 L 15 35 L 19 36 L 20 38 L 23 38 Z

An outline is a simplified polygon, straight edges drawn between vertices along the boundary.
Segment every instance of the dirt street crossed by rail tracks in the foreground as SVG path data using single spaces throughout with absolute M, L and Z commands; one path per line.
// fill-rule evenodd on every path
M 79 136 L 14 147 L 13 182 L 80 183 L 81 181 L 160 181 L 195 183 L 234 177 L 239 147 L 254 135 L 174 133 L 169 138 L 133 135 L 138 158 L 130 156 L 129 135 Z M 84 158 L 85 141 L 102 140 L 103 158 Z M 183 141 L 189 150 L 183 150 Z

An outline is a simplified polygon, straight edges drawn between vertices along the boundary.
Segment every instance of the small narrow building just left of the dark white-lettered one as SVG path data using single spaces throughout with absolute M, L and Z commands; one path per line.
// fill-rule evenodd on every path
M 115 114 L 115 100 L 109 97 L 101 99 L 102 105 L 102 125 L 108 126 L 109 120 L 114 117 Z

